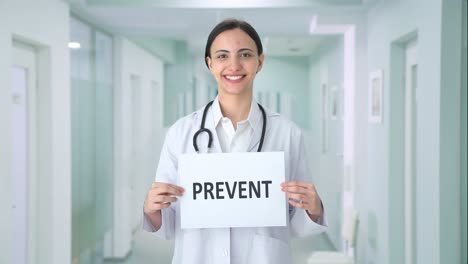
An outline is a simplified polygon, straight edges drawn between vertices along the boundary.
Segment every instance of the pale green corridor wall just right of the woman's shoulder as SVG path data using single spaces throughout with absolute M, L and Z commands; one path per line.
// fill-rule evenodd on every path
M 340 94 L 343 91 L 343 39 L 328 37 L 309 58 L 309 98 L 310 109 L 308 130 L 309 160 L 314 183 L 327 208 L 329 230 L 327 235 L 333 248 L 341 249 L 342 193 L 343 193 L 343 119 L 341 111 L 335 119 L 331 118 L 332 89 L 337 89 L 336 96 L 342 105 Z M 322 122 L 322 84 L 328 85 L 328 115 Z M 340 103 L 341 102 L 341 103 Z M 328 137 L 322 136 L 326 126 Z M 323 140 L 327 140 L 327 149 L 323 150 Z

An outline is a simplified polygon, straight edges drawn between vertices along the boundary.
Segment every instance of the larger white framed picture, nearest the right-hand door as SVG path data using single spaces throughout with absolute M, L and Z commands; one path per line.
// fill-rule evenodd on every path
M 383 115 L 383 71 L 369 74 L 368 117 L 369 123 L 382 123 Z

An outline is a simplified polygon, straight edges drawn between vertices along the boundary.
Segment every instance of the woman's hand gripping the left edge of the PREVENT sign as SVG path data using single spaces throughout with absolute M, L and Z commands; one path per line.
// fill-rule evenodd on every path
M 161 209 L 169 207 L 172 203 L 177 201 L 176 196 L 182 196 L 184 189 L 180 186 L 153 182 L 151 189 L 146 195 L 144 212 L 150 217 L 160 216 Z

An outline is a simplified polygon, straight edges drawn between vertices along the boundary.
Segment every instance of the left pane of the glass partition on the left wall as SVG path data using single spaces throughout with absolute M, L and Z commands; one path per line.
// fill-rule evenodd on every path
M 91 29 L 78 20 L 70 22 L 72 115 L 72 258 L 79 259 L 93 242 L 94 184 L 94 96 L 91 78 Z

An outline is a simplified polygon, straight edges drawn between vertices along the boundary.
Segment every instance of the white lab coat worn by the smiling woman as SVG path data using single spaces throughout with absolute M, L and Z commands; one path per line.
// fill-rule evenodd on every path
M 200 128 L 203 108 L 178 120 L 168 131 L 161 151 L 156 181 L 176 184 L 178 157 L 184 153 L 195 153 L 193 135 Z M 257 151 L 262 132 L 262 121 L 257 122 L 248 151 Z M 213 133 L 210 152 L 222 152 L 216 136 L 213 115 L 208 111 L 205 127 Z M 198 147 L 206 152 L 208 136 L 198 137 Z M 281 115 L 267 111 L 267 128 L 262 151 L 285 153 L 286 181 L 311 182 L 308 162 L 305 157 L 304 139 L 300 129 Z M 291 236 L 318 234 L 326 230 L 314 223 L 305 210 L 289 206 L 287 227 L 252 227 L 247 232 L 245 243 L 249 243 L 245 264 L 288 264 L 291 263 Z M 173 264 L 224 264 L 230 263 L 229 228 L 181 229 L 179 203 L 162 210 L 162 225 L 157 231 L 147 219 L 143 229 L 163 239 L 175 238 Z M 155 263 L 157 261 L 155 260 Z

